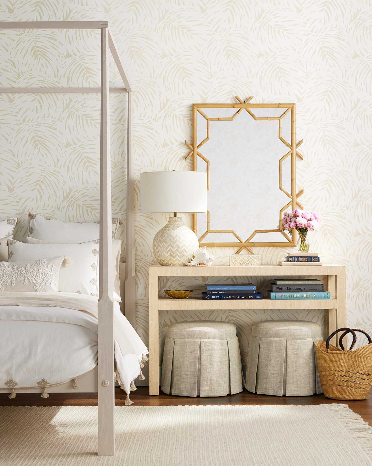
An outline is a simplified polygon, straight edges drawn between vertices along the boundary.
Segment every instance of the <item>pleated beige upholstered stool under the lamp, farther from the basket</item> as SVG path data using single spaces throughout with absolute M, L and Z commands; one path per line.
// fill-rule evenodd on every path
M 164 346 L 161 390 L 184 397 L 220 397 L 242 391 L 235 325 L 215 321 L 170 325 Z

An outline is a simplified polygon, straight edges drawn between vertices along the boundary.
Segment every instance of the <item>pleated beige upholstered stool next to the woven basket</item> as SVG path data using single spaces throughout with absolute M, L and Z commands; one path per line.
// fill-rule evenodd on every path
M 322 393 L 314 343 L 323 340 L 320 325 L 307 321 L 262 321 L 249 341 L 246 389 L 265 395 Z

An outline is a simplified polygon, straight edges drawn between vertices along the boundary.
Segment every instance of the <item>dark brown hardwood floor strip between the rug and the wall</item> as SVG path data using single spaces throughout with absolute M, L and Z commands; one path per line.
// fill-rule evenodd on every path
M 124 406 L 126 394 L 120 388 L 115 389 L 115 404 Z M 159 397 L 150 397 L 148 387 L 138 387 L 131 393 L 131 399 L 135 406 L 168 406 L 185 404 L 323 404 L 344 403 L 354 412 L 358 413 L 365 422 L 372 425 L 372 394 L 366 400 L 338 401 L 330 400 L 324 395 L 312 397 L 274 397 L 269 395 L 257 395 L 243 391 L 236 395 L 211 398 L 173 397 L 160 391 Z M 41 398 L 40 393 L 17 393 L 13 399 L 7 394 L 0 394 L 0 406 L 96 406 L 97 395 L 91 393 L 51 393 L 49 398 Z

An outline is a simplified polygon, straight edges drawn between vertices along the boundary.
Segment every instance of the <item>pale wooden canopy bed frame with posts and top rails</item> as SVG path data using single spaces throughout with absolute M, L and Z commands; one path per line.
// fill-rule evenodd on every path
M 97 392 L 98 386 L 98 454 L 114 454 L 114 338 L 113 338 L 113 276 L 111 234 L 111 173 L 110 173 L 110 119 L 109 92 L 126 92 L 127 121 L 127 182 L 126 182 L 126 274 L 125 314 L 135 328 L 135 268 L 134 268 L 134 184 L 132 160 L 132 89 L 126 78 L 113 36 L 107 21 L 38 21 L 0 22 L 0 30 L 19 29 L 100 29 L 101 30 L 101 85 L 100 88 L 0 88 L 0 93 L 92 93 L 100 92 L 100 289 L 98 298 L 98 378 L 97 370 L 83 374 L 80 391 Z M 109 88 L 109 51 L 119 70 L 124 87 Z M 96 368 L 97 369 L 97 368 Z M 64 390 L 60 385 L 54 391 Z

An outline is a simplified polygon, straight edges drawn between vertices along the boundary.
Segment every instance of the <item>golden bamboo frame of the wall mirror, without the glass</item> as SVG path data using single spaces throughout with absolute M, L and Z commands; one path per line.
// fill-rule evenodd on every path
M 207 172 L 207 191 L 209 191 L 209 160 L 200 152 L 200 148 L 206 144 L 210 139 L 210 121 L 232 121 L 236 118 L 239 113 L 243 110 L 246 110 L 249 115 L 254 120 L 277 120 L 278 121 L 278 137 L 279 140 L 287 146 L 289 151 L 279 159 L 279 189 L 286 194 L 290 199 L 288 204 L 283 206 L 279 212 L 279 229 L 270 229 L 270 230 L 255 230 L 252 234 L 243 241 L 237 232 L 234 230 L 211 230 L 210 229 L 210 212 L 207 211 L 206 219 L 206 232 L 199 237 L 199 245 L 207 247 L 235 247 L 237 248 L 234 254 L 239 254 L 243 249 L 246 249 L 248 253 L 253 254 L 251 247 L 295 247 L 297 242 L 297 232 L 292 231 L 292 236 L 287 236 L 281 231 L 282 228 L 282 217 L 283 212 L 291 206 L 291 210 L 295 209 L 297 206 L 303 208 L 298 198 L 303 194 L 304 190 L 301 189 L 297 192 L 296 187 L 296 158 L 303 159 L 303 156 L 297 151 L 299 146 L 302 144 L 302 139 L 296 143 L 296 104 L 295 103 L 251 103 L 253 97 L 249 97 L 245 101 L 241 100 L 239 97 L 235 96 L 235 99 L 238 103 L 193 103 L 193 144 L 190 144 L 188 141 L 185 141 L 186 146 L 190 149 L 190 152 L 186 155 L 186 159 L 192 157 L 193 161 L 193 171 L 198 169 L 198 157 L 204 160 L 206 163 L 206 172 Z M 256 117 L 252 109 L 283 109 L 284 112 L 279 117 Z M 206 115 L 205 109 L 237 109 L 232 117 L 219 117 L 219 118 L 210 118 Z M 198 143 L 197 136 L 197 115 L 199 114 L 206 119 L 206 138 Z M 286 141 L 281 134 L 281 119 L 287 114 L 291 113 L 291 142 Z M 282 170 L 281 165 L 283 160 L 287 157 L 291 157 L 291 192 L 287 192 L 282 186 Z M 193 214 L 193 231 L 198 235 L 198 214 Z M 284 241 L 278 242 L 255 242 L 252 241 L 254 236 L 258 233 L 273 233 L 279 232 L 283 235 Z M 209 233 L 231 233 L 237 241 L 234 242 L 207 242 L 206 236 Z

